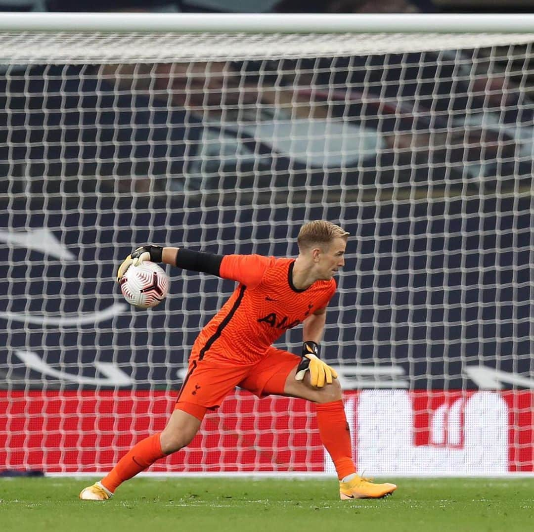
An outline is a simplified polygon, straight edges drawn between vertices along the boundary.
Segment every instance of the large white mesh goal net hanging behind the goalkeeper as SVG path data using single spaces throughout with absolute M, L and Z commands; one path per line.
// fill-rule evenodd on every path
M 324 218 L 351 234 L 321 353 L 360 471 L 532 472 L 534 32 L 162 16 L 0 21 L 0 468 L 105 472 L 164 427 L 234 285 L 168 268 L 132 308 L 132 248 L 295 256 Z M 314 411 L 236 389 L 150 471 L 332 474 Z

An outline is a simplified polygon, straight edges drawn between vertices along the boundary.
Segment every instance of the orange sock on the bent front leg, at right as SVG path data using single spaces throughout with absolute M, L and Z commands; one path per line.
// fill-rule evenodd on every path
M 319 436 L 332 457 L 338 478 L 341 480 L 345 476 L 356 473 L 343 401 L 317 404 L 316 408 Z

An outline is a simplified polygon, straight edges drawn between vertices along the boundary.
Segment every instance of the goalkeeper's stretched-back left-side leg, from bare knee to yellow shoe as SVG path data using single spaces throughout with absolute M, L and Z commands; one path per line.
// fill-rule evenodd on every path
M 134 445 L 100 481 L 84 488 L 82 500 L 107 500 L 125 480 L 144 471 L 156 460 L 182 449 L 200 428 L 201 419 L 183 410 L 175 410 L 163 432 Z

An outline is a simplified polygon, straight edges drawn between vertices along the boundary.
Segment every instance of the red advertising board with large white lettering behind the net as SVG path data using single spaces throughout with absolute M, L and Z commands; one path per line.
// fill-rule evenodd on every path
M 354 456 L 359 468 L 373 474 L 532 472 L 532 402 L 529 391 L 345 394 Z M 0 468 L 107 471 L 132 444 L 161 431 L 173 406 L 174 395 L 167 392 L 2 391 Z M 373 461 L 377 456 L 380 461 Z M 189 447 L 151 471 L 331 467 L 312 404 L 287 397 L 258 400 L 237 391 L 206 416 Z

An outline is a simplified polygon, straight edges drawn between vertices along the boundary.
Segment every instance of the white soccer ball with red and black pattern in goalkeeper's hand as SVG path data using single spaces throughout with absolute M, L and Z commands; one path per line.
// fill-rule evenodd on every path
M 124 299 L 142 309 L 155 307 L 163 301 L 169 284 L 167 273 L 150 261 L 143 261 L 138 266 L 132 264 L 120 280 Z

